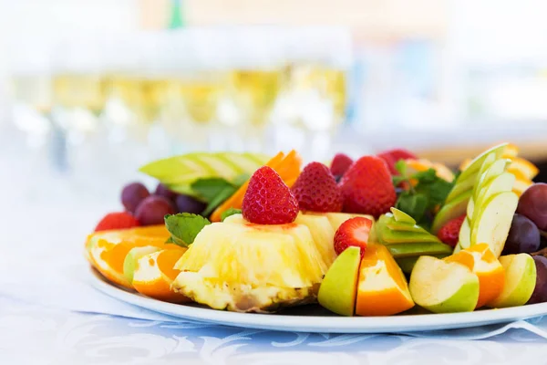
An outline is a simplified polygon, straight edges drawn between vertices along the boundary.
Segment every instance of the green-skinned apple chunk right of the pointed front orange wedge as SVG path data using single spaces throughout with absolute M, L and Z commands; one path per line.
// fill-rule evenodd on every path
M 418 258 L 409 287 L 416 304 L 433 313 L 470 312 L 479 300 L 479 277 L 468 266 L 431 256 Z

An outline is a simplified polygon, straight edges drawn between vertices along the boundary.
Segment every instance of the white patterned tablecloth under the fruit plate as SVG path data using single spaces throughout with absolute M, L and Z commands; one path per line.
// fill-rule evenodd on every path
M 109 176 L 86 172 L 85 165 L 77 176 L 51 173 L 44 156 L 21 152 L 0 143 L 2 365 L 547 363 L 547 340 L 524 329 L 503 328 L 501 335 L 481 340 L 307 334 L 63 308 L 59 303 L 72 306 L 80 294 L 56 290 L 52 274 L 85 265 L 85 236 L 101 214 L 119 209 L 119 186 L 103 191 L 107 185 L 100 182 Z M 96 293 L 94 300 L 102 299 Z M 547 333 L 547 321 L 541 328 Z

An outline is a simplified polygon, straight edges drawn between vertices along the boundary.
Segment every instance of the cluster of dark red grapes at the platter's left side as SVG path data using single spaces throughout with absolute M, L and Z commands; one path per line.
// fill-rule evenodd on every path
M 191 196 L 171 192 L 161 183 L 152 194 L 142 183 L 129 183 L 121 191 L 121 203 L 141 225 L 163 224 L 165 214 L 201 214 L 205 209 L 204 203 Z

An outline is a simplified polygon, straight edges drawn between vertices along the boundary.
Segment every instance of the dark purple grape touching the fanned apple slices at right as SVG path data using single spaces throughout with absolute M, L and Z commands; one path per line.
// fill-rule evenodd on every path
M 540 230 L 524 215 L 515 214 L 501 255 L 530 254 L 540 249 Z

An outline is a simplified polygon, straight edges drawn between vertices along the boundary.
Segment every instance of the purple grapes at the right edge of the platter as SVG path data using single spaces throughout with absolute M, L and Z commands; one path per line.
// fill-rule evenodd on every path
M 534 183 L 519 199 L 502 255 L 531 254 L 545 244 L 547 231 L 547 183 Z M 543 236 L 542 236 L 543 235 Z M 547 257 L 533 255 L 536 286 L 529 304 L 547 302 Z

